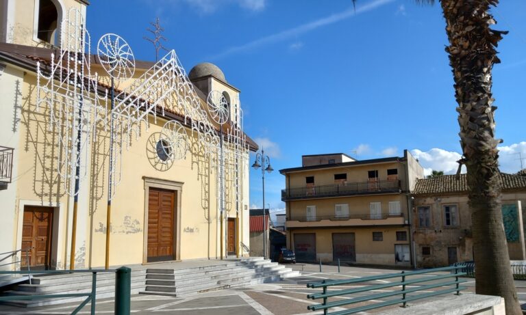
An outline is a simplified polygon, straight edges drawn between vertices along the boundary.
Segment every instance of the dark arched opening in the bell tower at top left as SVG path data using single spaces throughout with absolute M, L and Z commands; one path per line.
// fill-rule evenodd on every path
M 60 46 L 64 12 L 62 0 L 35 0 L 34 40 Z

